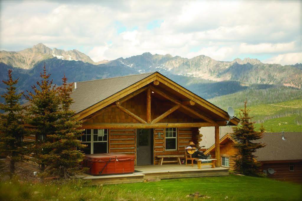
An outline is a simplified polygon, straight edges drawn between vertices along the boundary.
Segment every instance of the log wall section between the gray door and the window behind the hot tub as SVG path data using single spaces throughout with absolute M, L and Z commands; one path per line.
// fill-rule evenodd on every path
M 109 129 L 109 153 L 134 154 L 136 156 L 135 129 Z

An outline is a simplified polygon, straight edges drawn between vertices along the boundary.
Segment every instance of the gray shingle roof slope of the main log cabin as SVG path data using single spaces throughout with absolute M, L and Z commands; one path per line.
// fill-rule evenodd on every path
M 70 109 L 78 113 L 152 74 L 154 72 L 77 82 L 77 89 L 71 94 L 74 103 Z

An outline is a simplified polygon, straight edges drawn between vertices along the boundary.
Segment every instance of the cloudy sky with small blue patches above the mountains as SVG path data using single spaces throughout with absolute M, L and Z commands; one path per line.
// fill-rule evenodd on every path
M 1 1 L 0 49 L 42 42 L 94 61 L 152 54 L 301 63 L 301 1 Z

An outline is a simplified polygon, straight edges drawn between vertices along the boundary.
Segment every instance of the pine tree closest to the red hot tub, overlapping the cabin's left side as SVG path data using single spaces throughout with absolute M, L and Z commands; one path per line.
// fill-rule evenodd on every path
M 61 110 L 59 111 L 59 120 L 56 124 L 56 132 L 48 135 L 50 142 L 46 146 L 51 148 L 48 155 L 48 165 L 51 172 L 57 174 L 64 179 L 76 174 L 80 170 L 80 162 L 84 159 L 84 154 L 77 150 L 76 147 L 84 148 L 79 137 L 83 130 L 79 129 L 82 126 L 82 121 L 77 121 L 75 111 L 70 110 L 72 98 L 72 84 L 67 84 L 67 78 L 62 78 L 63 85 L 58 88 L 61 101 Z

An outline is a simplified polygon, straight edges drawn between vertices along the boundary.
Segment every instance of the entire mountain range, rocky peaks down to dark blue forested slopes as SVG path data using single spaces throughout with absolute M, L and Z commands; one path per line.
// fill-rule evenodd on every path
M 248 88 L 289 86 L 301 89 L 301 64 L 263 64 L 250 58 L 216 61 L 204 55 L 188 59 L 149 52 L 95 63 L 77 50 L 50 49 L 42 43 L 19 52 L 1 51 L 0 80 L 6 80 L 8 69 L 12 69 L 13 78 L 19 78 L 17 90 L 31 90 L 31 86 L 40 80 L 44 64 L 57 85 L 61 84 L 64 74 L 69 82 L 78 82 L 159 71 L 205 99 Z M 0 94 L 4 92 L 5 86 L 1 82 Z

